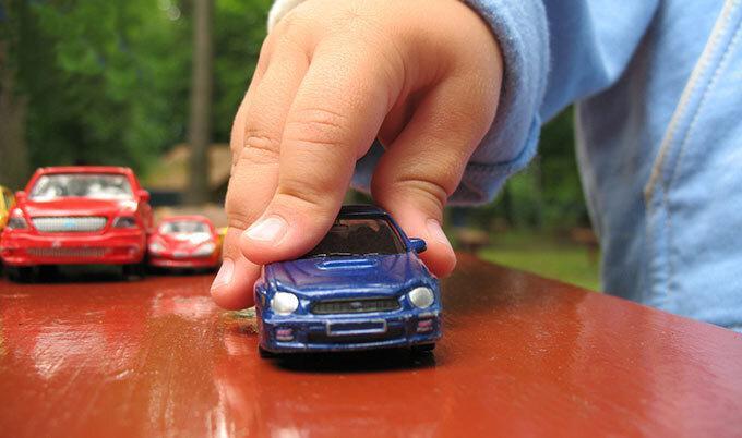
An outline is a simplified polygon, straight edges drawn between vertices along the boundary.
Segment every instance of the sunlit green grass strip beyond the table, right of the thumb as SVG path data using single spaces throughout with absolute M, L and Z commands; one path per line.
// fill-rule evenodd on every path
M 478 255 L 489 261 L 600 290 L 597 250 L 546 233 L 498 233 Z M 593 253 L 591 253 L 593 252 Z

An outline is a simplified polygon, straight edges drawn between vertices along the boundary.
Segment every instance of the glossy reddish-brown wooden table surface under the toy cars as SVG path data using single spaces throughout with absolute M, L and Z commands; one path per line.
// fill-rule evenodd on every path
M 433 355 L 261 360 L 210 278 L 0 282 L 0 436 L 742 436 L 742 336 L 462 255 Z

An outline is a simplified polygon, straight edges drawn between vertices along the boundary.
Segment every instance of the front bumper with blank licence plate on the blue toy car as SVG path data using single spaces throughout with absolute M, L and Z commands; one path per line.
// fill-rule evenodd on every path
M 441 338 L 439 311 L 259 320 L 261 346 L 273 353 L 411 346 Z

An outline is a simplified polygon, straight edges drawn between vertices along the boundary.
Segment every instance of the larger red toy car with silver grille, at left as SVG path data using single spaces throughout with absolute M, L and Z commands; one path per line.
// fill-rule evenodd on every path
M 141 272 L 152 227 L 149 193 L 129 168 L 74 166 L 38 169 L 0 236 L 11 278 L 35 266 L 122 265 Z

